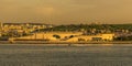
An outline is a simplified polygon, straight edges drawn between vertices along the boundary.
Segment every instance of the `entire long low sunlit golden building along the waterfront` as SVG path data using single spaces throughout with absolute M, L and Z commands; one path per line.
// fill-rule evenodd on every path
M 65 41 L 65 42 L 89 42 L 89 41 L 112 41 L 114 34 L 97 34 L 82 35 L 82 32 L 46 32 L 34 33 L 29 36 L 15 37 L 14 40 L 48 40 L 48 41 Z

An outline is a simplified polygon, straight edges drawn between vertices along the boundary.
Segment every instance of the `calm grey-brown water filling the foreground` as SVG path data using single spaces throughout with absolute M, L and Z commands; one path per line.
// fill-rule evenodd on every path
M 0 66 L 132 66 L 132 45 L 0 44 Z

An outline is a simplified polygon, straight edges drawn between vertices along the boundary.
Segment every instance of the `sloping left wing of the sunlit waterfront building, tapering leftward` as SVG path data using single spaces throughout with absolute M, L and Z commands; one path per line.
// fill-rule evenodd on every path
M 50 41 L 61 41 L 65 38 L 69 38 L 70 36 L 81 35 L 82 32 L 42 32 L 34 33 L 32 35 L 14 37 L 14 40 L 50 40 Z M 59 36 L 56 37 L 55 35 Z

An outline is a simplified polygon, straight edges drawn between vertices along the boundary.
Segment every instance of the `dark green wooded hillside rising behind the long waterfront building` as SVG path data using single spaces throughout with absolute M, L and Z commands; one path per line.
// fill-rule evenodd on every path
M 132 31 L 132 24 L 69 24 L 69 25 L 57 25 L 50 29 L 42 29 L 37 31 L 89 31 L 91 29 L 96 30 L 109 30 L 114 32 L 117 30 L 129 30 Z

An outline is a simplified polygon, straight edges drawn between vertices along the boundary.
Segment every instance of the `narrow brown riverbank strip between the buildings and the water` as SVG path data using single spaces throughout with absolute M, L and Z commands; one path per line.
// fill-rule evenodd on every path
M 0 44 L 132 44 L 132 41 L 113 41 L 113 42 L 0 41 Z

